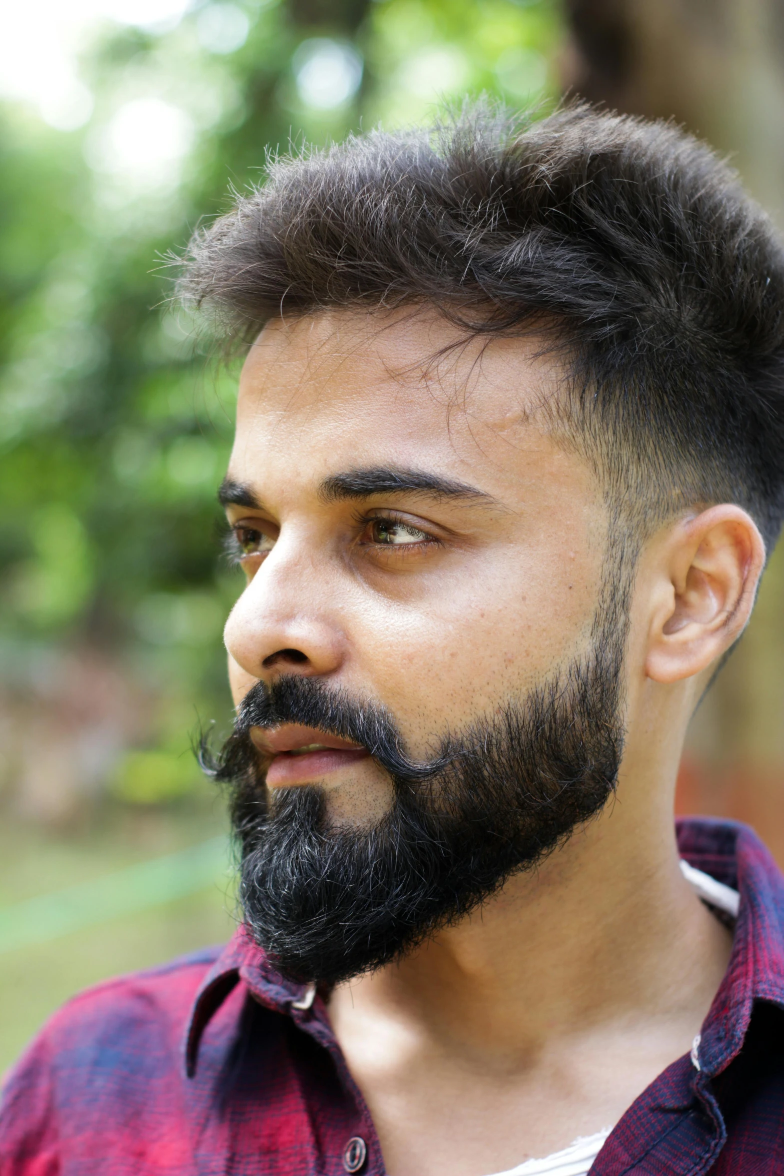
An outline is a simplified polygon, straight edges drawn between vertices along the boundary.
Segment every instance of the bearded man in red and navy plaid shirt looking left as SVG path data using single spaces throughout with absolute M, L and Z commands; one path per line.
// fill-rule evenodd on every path
M 672 127 L 467 108 L 275 163 L 182 292 L 250 342 L 243 926 L 53 1018 L 4 1174 L 784 1172 L 784 883 L 672 822 L 784 516 L 765 216 Z

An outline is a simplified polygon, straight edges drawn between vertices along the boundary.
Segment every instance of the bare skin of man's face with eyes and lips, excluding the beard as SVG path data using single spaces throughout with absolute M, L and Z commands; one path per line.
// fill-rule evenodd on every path
M 319 677 L 386 707 L 422 759 L 588 648 L 607 513 L 530 419 L 554 363 L 496 340 L 428 367 L 456 338 L 430 313 L 323 313 L 252 348 L 228 475 L 256 503 L 228 506 L 248 579 L 226 627 L 235 702 Z M 337 748 L 277 755 L 267 782 L 320 783 L 339 823 L 390 803 L 388 774 Z

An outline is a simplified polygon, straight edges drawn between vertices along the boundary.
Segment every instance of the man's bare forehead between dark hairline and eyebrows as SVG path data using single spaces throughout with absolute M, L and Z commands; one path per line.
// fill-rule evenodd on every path
M 540 342 L 541 347 L 541 342 Z M 383 463 L 494 481 L 574 465 L 538 423 L 558 369 L 536 339 L 465 340 L 433 310 L 269 323 L 240 381 L 232 475 L 314 482 Z

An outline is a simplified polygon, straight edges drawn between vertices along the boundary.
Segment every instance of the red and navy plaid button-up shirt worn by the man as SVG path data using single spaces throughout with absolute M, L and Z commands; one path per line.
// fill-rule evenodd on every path
M 678 840 L 741 891 L 730 965 L 698 1049 L 639 1095 L 591 1172 L 784 1176 L 784 877 L 743 826 L 683 821 Z M 310 996 L 240 931 L 75 997 L 11 1075 L 0 1172 L 380 1176 L 368 1109 Z

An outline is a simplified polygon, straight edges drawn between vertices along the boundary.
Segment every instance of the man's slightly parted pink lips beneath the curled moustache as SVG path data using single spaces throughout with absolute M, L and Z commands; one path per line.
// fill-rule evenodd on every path
M 315 783 L 369 756 L 367 748 L 313 727 L 287 723 L 272 731 L 252 727 L 249 734 L 267 764 L 270 788 Z

